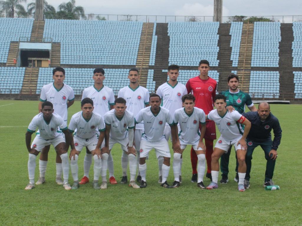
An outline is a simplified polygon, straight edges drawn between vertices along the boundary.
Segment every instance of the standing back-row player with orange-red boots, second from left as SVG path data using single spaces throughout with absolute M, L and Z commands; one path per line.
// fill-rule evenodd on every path
M 87 97 L 92 99 L 94 105 L 93 111 L 104 118 L 105 113 L 113 109 L 114 93 L 111 88 L 103 84 L 105 79 L 105 71 L 103 68 L 95 68 L 92 79 L 94 80 L 94 85 L 84 89 L 82 100 Z M 104 146 L 104 144 L 102 146 Z M 89 170 L 91 164 L 92 154 L 86 148 L 86 155 L 84 157 L 84 176 L 82 177 L 80 184 L 86 184 L 89 182 Z M 108 168 L 109 182 L 111 184 L 117 184 L 117 181 L 114 178 L 113 159 L 111 155 L 108 157 Z

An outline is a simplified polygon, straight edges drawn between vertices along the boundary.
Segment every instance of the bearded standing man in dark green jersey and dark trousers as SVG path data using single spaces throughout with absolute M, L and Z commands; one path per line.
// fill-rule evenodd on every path
M 238 89 L 239 85 L 239 77 L 236 74 L 230 74 L 227 78 L 227 84 L 229 86 L 229 90 L 223 91 L 220 94 L 226 96 L 226 106 L 232 106 L 238 111 L 240 114 L 245 112 L 245 106 L 249 108 L 250 111 L 257 111 L 257 108 L 254 106 L 251 97 L 248 93 L 244 93 L 243 91 Z M 232 147 L 228 150 L 227 153 L 221 155 L 220 157 L 220 170 L 222 172 L 221 184 L 226 184 L 228 180 L 229 173 L 229 159 Z M 235 155 L 237 156 L 237 155 Z M 236 160 L 236 172 L 238 168 L 238 163 Z M 238 182 L 238 173 L 236 173 L 235 177 L 236 182 Z

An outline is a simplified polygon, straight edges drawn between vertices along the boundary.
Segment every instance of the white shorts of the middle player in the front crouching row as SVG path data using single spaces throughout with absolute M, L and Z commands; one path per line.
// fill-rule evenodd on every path
M 140 141 L 140 158 L 144 158 L 148 156 L 149 152 L 152 149 L 155 149 L 156 158 L 159 156 L 171 158 L 169 144 L 165 139 L 161 139 L 159 141 Z

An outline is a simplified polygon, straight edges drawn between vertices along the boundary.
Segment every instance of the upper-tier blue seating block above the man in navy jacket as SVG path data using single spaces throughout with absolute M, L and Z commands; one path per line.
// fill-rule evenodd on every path
M 252 67 L 278 67 L 280 22 L 255 22 L 252 46 Z

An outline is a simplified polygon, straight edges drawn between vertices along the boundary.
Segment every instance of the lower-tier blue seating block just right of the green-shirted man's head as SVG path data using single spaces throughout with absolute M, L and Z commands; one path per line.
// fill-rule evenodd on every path
M 251 71 L 249 95 L 252 98 L 279 98 L 278 71 Z

